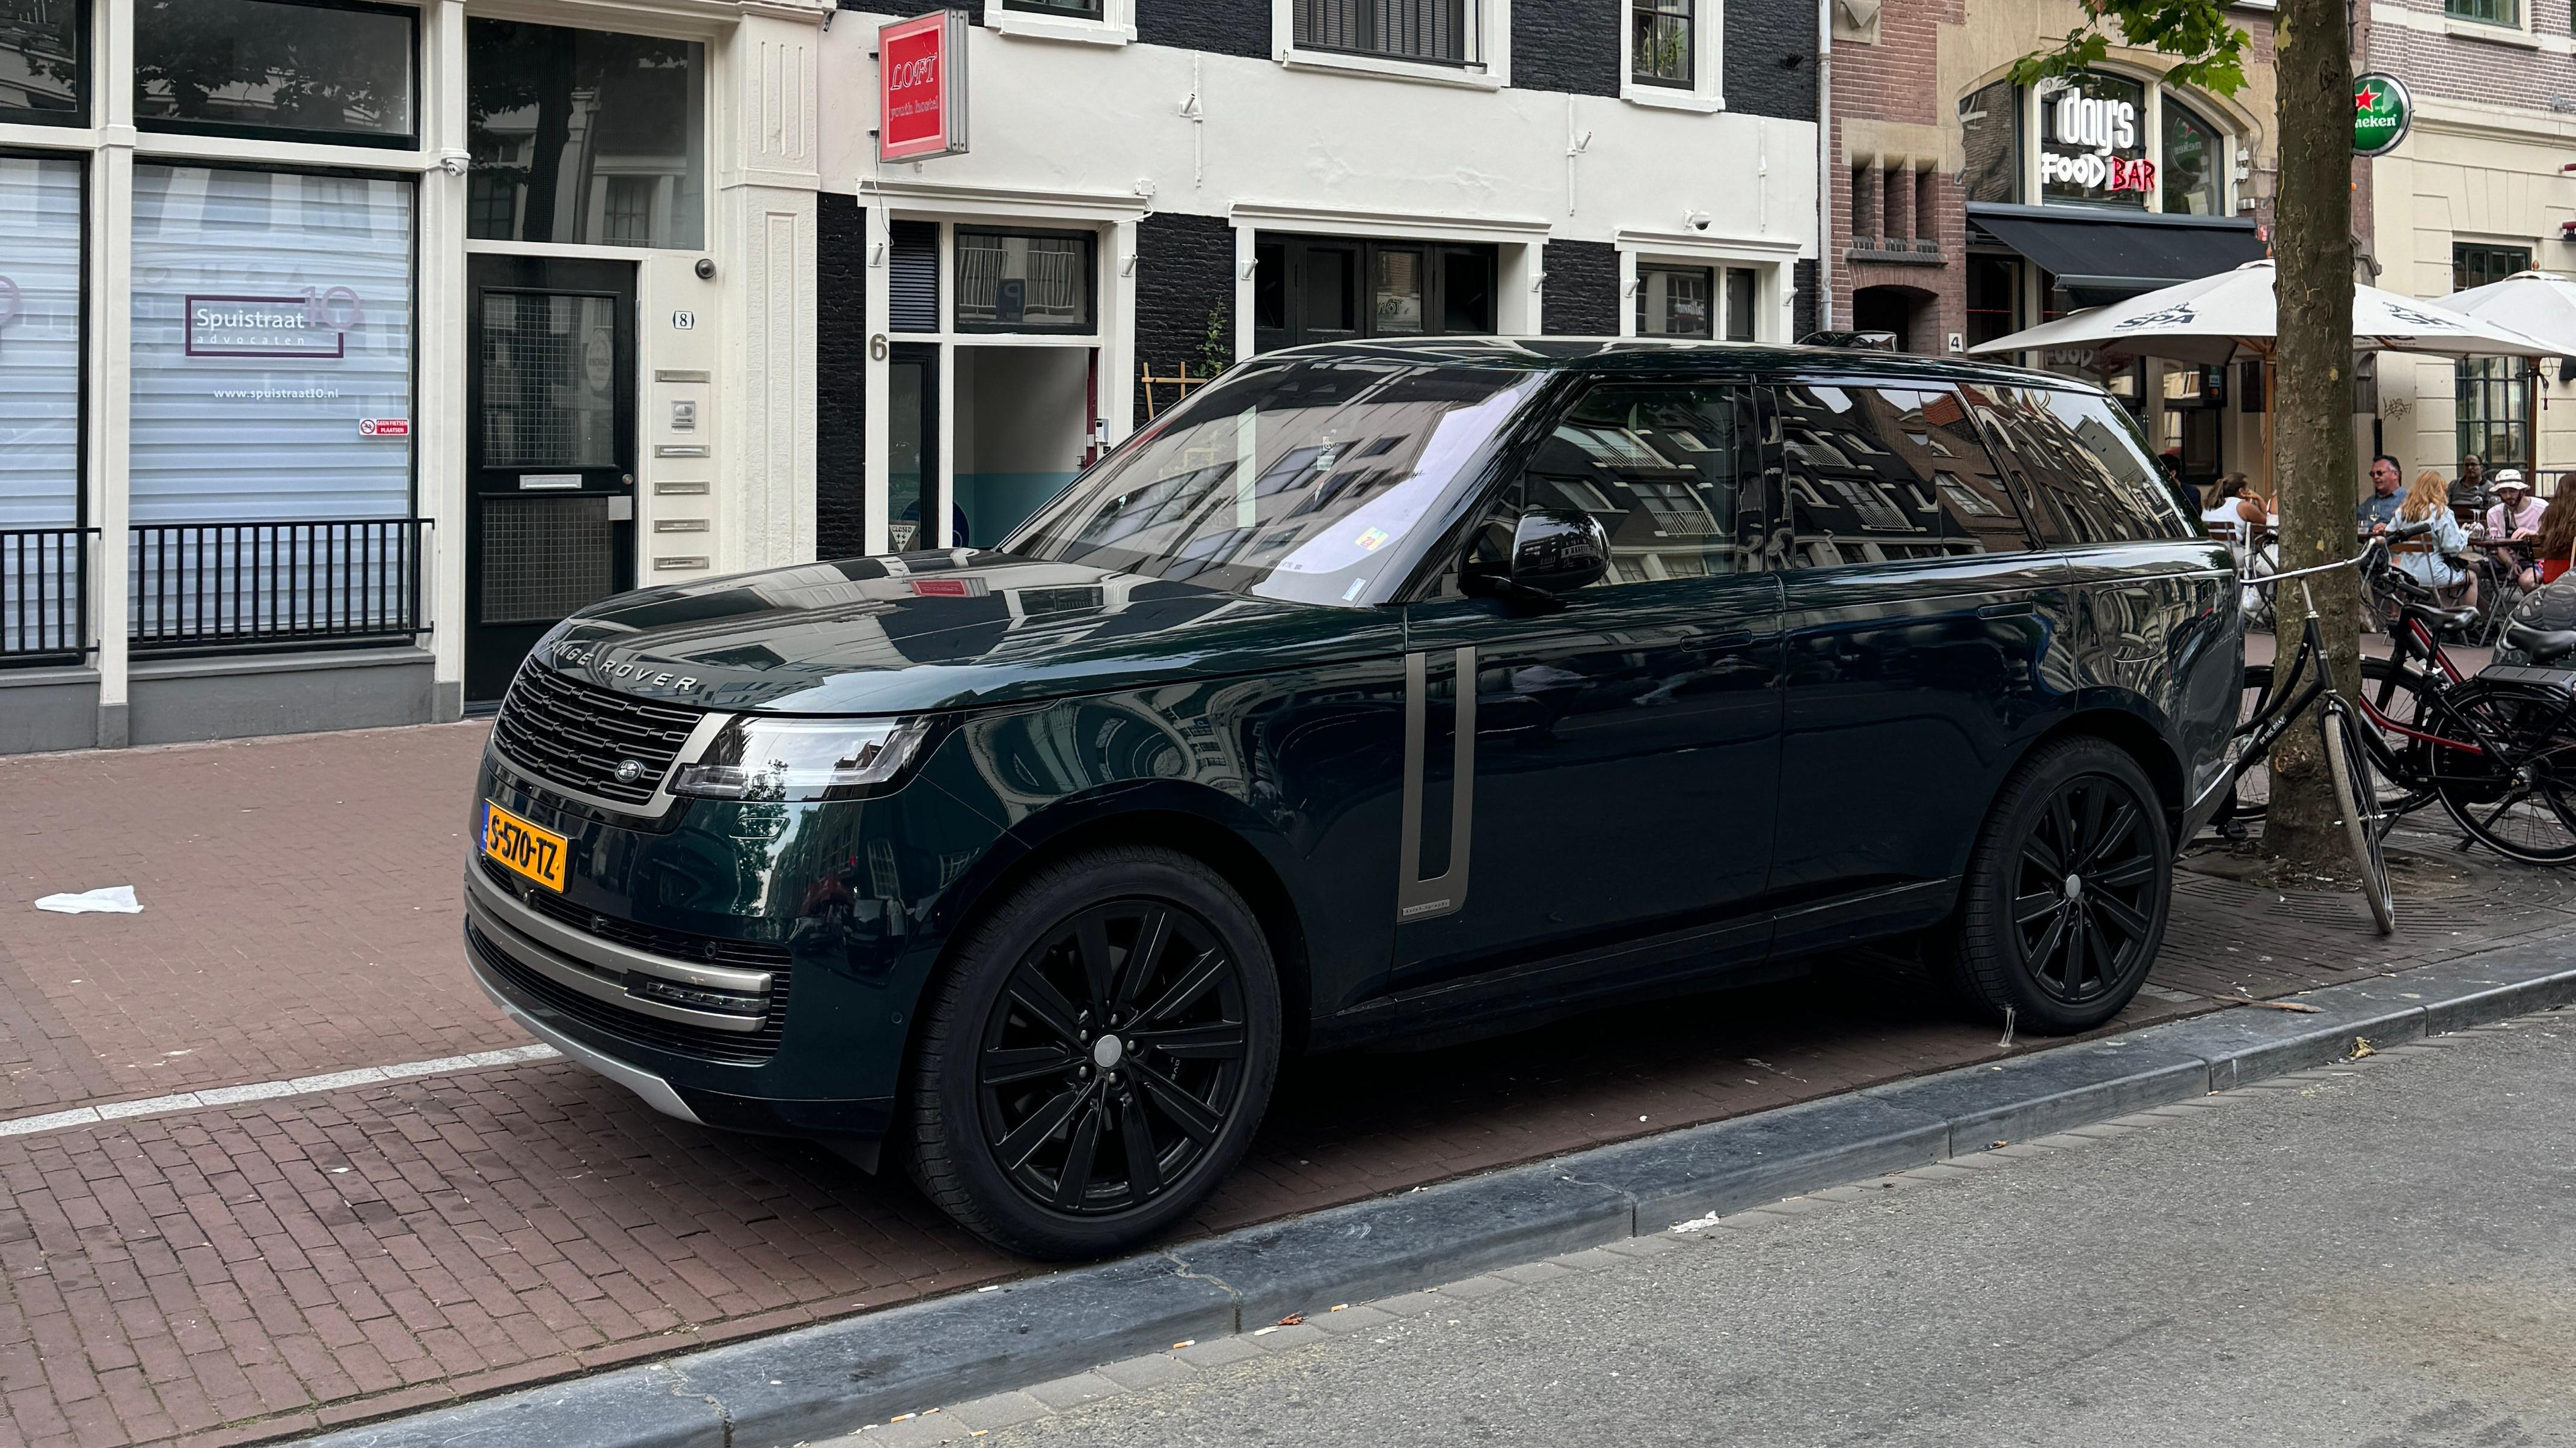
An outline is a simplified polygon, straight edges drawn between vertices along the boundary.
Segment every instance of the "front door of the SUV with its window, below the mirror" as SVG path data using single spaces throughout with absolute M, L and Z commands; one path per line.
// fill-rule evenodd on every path
M 1553 611 L 1406 611 L 1399 989 L 1571 1000 L 1767 951 L 1780 582 L 1762 572 L 1759 402 L 1698 381 L 1589 389 L 1479 546 L 1525 508 L 1582 510 L 1610 536 L 1610 577 Z

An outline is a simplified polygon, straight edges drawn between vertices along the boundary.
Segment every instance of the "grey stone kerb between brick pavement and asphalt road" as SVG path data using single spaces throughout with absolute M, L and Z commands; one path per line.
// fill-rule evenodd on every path
M 2576 1002 L 2576 956 L 2509 946 L 1687 1126 L 987 1291 L 799 1327 L 312 1438 L 317 1448 L 788 1448 L 948 1402 Z M 677 1399 L 677 1381 L 690 1396 Z M 693 1407 L 680 1415 L 675 1402 Z M 698 1417 L 698 1415 L 706 1417 Z

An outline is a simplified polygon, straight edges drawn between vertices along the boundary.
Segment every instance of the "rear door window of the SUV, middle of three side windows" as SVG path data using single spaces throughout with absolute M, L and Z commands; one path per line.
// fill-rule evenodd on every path
M 1788 567 L 2030 549 L 1968 405 L 1945 386 L 1780 389 Z

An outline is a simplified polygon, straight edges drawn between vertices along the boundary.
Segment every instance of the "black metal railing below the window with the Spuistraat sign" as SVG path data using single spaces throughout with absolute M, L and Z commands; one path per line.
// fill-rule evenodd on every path
M 142 523 L 126 631 L 137 649 L 420 634 L 428 518 Z

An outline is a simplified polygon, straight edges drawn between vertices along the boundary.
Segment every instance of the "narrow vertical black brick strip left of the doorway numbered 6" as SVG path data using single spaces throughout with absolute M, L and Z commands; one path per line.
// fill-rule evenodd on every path
M 814 216 L 814 557 L 866 551 L 868 214 L 824 191 Z

